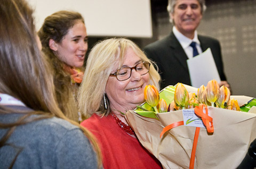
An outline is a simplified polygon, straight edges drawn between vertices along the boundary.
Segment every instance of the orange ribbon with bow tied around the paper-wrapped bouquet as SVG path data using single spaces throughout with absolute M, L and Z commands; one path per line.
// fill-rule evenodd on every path
M 203 108 L 205 107 L 205 113 L 203 111 Z M 213 129 L 213 122 L 212 122 L 212 117 L 210 117 L 208 115 L 208 108 L 206 105 L 204 104 L 199 104 L 199 106 L 195 107 L 195 114 L 200 116 L 204 125 L 206 126 L 206 130 L 209 133 L 213 133 L 214 129 Z M 175 128 L 177 126 L 183 125 L 184 122 L 180 121 L 180 122 L 175 122 L 172 123 L 170 125 L 167 125 L 163 131 L 160 134 L 160 138 L 163 136 L 163 134 L 169 130 L 171 130 L 172 128 Z M 195 136 L 194 136 L 194 142 L 193 142 L 193 148 L 191 151 L 191 156 L 190 156 L 190 163 L 189 163 L 189 169 L 193 169 L 194 168 L 194 164 L 195 164 L 195 157 L 196 157 L 196 147 L 197 147 L 197 141 L 198 141 L 198 137 L 199 137 L 199 131 L 200 128 L 196 128 L 195 131 Z

